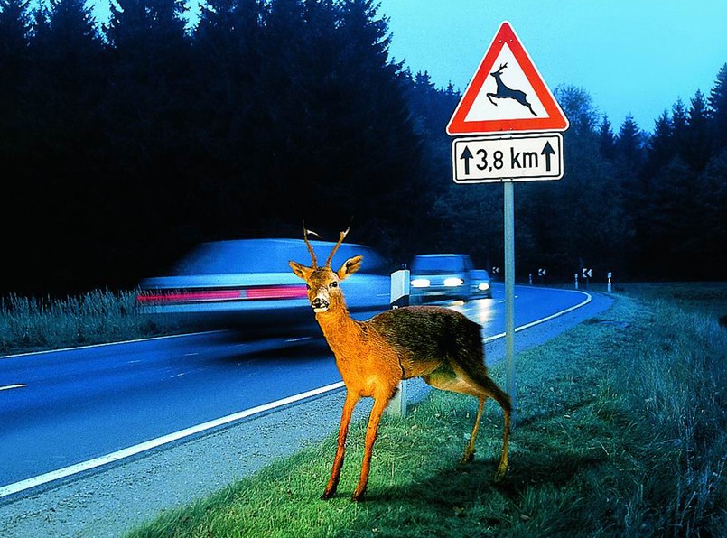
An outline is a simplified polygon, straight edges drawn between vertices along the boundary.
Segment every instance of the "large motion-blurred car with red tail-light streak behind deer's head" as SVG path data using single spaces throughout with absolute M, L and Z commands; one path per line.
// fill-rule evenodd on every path
M 322 261 L 334 246 L 311 244 Z M 363 255 L 361 269 L 341 286 L 351 315 L 366 319 L 389 308 L 390 274 L 381 255 L 355 244 L 342 244 L 331 267 L 338 269 L 354 255 Z M 144 279 L 136 301 L 143 311 L 164 314 L 182 325 L 238 328 L 256 337 L 318 335 L 305 283 L 291 270 L 290 260 L 311 264 L 303 240 L 203 243 L 170 274 Z

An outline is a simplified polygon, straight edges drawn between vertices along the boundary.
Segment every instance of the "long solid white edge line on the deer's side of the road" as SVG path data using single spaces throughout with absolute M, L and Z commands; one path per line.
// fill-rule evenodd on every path
M 541 320 L 535 320 L 530 323 L 527 323 L 526 325 L 521 325 L 519 327 L 516 327 L 515 332 L 529 329 L 540 323 L 545 323 L 546 321 L 554 320 L 555 318 L 557 318 L 559 316 L 563 316 L 564 314 L 567 314 L 568 312 L 577 310 L 592 301 L 592 295 L 587 292 L 581 292 L 581 291 L 575 291 L 575 290 L 557 290 L 557 291 L 581 293 L 581 294 L 585 295 L 586 298 L 579 304 L 576 304 L 575 306 L 567 308 L 564 311 L 555 312 L 555 314 L 547 316 Z M 495 336 L 491 336 L 486 339 L 483 339 L 482 341 L 484 343 L 488 343 L 493 340 L 502 339 L 502 338 L 505 338 L 504 332 L 497 334 Z M 8 386 L 14 387 L 14 385 L 8 385 Z M 32 487 L 38 487 L 38 486 L 42 486 L 43 484 L 48 484 L 49 482 L 52 482 L 54 480 L 59 480 L 61 478 L 68 478 L 72 475 L 90 470 L 92 468 L 98 468 L 103 465 L 107 465 L 108 463 L 113 463 L 115 461 L 118 461 L 120 459 L 126 459 L 131 456 L 135 456 L 136 454 L 140 454 L 146 450 L 156 449 L 158 447 L 161 447 L 161 446 L 168 444 L 170 442 L 173 442 L 173 441 L 179 441 L 181 439 L 184 439 L 185 437 L 190 437 L 191 435 L 196 435 L 198 433 L 201 433 L 202 431 L 211 430 L 213 428 L 219 428 L 219 426 L 224 426 L 226 424 L 229 424 L 230 422 L 239 421 L 241 419 L 251 417 L 257 413 L 266 413 L 275 408 L 283 407 L 284 405 L 288 405 L 288 404 L 294 404 L 295 402 L 300 402 L 302 400 L 305 400 L 306 398 L 311 398 L 312 396 L 317 396 L 320 394 L 325 394 L 325 393 L 329 393 L 334 390 L 338 390 L 340 388 L 343 388 L 344 386 L 345 385 L 343 384 L 342 381 L 340 381 L 338 383 L 333 383 L 331 385 L 325 385 L 320 388 L 312 389 L 310 391 L 307 391 L 307 392 L 304 392 L 301 394 L 294 394 L 293 396 L 288 396 L 287 398 L 283 398 L 281 400 L 275 400 L 275 402 L 270 402 L 269 404 L 257 405 L 256 407 L 252 407 L 250 409 L 241 411 L 239 413 L 233 413 L 228 416 L 224 416 L 219 419 L 216 419 L 214 421 L 203 422 L 201 424 L 198 424 L 197 426 L 191 426 L 191 428 L 185 428 L 184 430 L 174 431 L 173 433 L 163 435 L 162 437 L 159 437 L 157 439 L 153 439 L 151 441 L 144 441 L 142 443 L 139 443 L 139 444 L 134 445 L 133 447 L 129 447 L 127 449 L 117 450 L 116 452 L 111 452 L 110 454 L 107 454 L 106 456 L 101 456 L 101 457 L 95 458 L 95 459 L 89 459 L 88 461 L 82 461 L 75 465 L 71 465 L 70 467 L 60 468 L 60 469 L 39 475 L 37 477 L 26 478 L 19 482 L 15 482 L 14 484 L 8 484 L 7 486 L 0 487 L 0 498 L 3 498 L 5 496 L 11 496 L 11 495 L 14 495 L 15 493 L 20 493 L 20 492 L 22 492 L 26 489 L 30 489 Z

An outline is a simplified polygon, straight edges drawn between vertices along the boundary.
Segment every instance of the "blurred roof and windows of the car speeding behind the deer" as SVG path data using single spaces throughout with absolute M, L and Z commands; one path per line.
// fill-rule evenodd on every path
M 313 241 L 312 246 L 319 264 L 331 252 L 332 244 Z M 364 255 L 362 273 L 386 274 L 384 262 L 370 249 L 359 245 L 340 246 L 331 267 L 338 269 L 354 255 Z M 227 273 L 287 273 L 290 260 L 308 264 L 311 255 L 303 241 L 298 240 L 240 240 L 203 243 L 176 265 L 174 274 L 227 274 Z

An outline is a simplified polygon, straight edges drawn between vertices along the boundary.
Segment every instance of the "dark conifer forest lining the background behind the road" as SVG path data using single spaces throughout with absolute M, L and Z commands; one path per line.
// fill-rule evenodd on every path
M 503 256 L 502 188 L 452 181 L 460 98 L 388 52 L 373 0 L 0 0 L 0 293 L 125 289 L 201 241 L 301 237 Z M 727 59 L 725 59 L 727 61 Z M 518 183 L 517 279 L 727 279 L 727 63 L 654 125 L 587 88 L 560 181 Z

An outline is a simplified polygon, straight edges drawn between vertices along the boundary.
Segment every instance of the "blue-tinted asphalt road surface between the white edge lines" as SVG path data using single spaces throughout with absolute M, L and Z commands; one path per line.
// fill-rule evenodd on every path
M 516 288 L 516 326 L 582 303 Z M 504 332 L 504 289 L 457 307 Z M 340 382 L 321 342 L 264 350 L 227 332 L 0 357 L 0 489 L 202 422 Z

